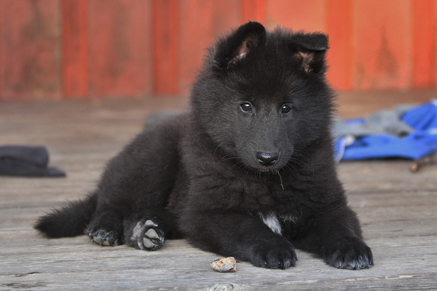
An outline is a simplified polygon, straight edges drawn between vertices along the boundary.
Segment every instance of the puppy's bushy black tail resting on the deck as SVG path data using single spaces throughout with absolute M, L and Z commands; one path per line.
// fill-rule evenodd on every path
M 97 195 L 90 194 L 85 199 L 70 202 L 40 217 L 34 227 L 48 238 L 83 234 L 96 210 L 96 205 Z

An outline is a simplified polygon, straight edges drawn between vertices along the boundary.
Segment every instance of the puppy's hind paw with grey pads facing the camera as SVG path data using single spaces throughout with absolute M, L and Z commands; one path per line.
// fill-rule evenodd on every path
M 130 245 L 141 250 L 155 251 L 164 245 L 164 231 L 151 220 L 141 220 L 132 231 Z

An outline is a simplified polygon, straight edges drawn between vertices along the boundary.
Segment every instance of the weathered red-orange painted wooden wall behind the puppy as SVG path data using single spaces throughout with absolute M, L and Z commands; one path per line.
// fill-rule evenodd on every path
M 248 20 L 328 33 L 335 89 L 437 85 L 437 0 L 0 0 L 0 99 L 186 95 Z

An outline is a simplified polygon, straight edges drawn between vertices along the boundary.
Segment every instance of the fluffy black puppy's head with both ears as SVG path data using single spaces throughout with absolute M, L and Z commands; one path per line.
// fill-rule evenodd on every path
M 193 85 L 193 122 L 250 169 L 302 161 L 303 149 L 328 134 L 327 49 L 323 33 L 240 26 L 209 50 Z

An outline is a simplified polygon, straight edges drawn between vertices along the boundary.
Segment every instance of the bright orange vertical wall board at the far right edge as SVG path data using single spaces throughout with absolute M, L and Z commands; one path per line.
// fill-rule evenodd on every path
M 436 7 L 434 0 L 412 0 L 413 12 L 413 86 L 435 85 Z

